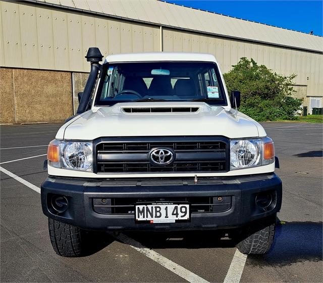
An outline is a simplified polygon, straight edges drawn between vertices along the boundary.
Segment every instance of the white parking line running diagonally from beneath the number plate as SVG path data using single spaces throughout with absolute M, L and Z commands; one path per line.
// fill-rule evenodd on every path
M 178 265 L 174 261 L 171 261 L 170 259 L 158 254 L 157 252 L 150 250 L 149 248 L 143 246 L 139 242 L 135 241 L 134 239 L 126 236 L 123 233 L 120 233 L 119 235 L 112 234 L 113 237 L 120 240 L 121 242 L 129 245 L 131 248 L 135 249 L 136 251 L 142 253 L 146 257 L 152 259 L 153 261 L 159 263 L 160 265 L 164 266 L 168 270 L 174 272 L 178 276 L 181 276 L 185 280 L 189 282 L 197 282 L 197 283 L 208 283 L 205 279 L 202 277 L 196 275 L 195 273 L 187 270 L 186 268 Z

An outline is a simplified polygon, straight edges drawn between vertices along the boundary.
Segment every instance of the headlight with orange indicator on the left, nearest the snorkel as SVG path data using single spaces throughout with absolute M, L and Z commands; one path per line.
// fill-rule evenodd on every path
M 93 170 L 93 144 L 90 141 L 50 141 L 47 151 L 48 164 L 56 168 Z

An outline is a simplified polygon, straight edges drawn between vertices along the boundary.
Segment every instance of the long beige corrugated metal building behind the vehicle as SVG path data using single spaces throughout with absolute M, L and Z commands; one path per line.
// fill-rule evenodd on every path
M 87 48 L 104 56 L 214 54 L 228 72 L 241 57 L 296 74 L 296 96 L 322 107 L 323 38 L 156 0 L 0 1 L 0 123 L 63 121 L 77 108 Z M 59 111 L 58 111 L 59 109 Z

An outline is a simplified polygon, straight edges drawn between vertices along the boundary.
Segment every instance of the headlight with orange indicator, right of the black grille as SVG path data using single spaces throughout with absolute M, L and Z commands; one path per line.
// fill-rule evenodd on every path
M 257 139 L 233 139 L 230 141 L 231 170 L 268 165 L 274 161 L 274 143 L 269 137 Z

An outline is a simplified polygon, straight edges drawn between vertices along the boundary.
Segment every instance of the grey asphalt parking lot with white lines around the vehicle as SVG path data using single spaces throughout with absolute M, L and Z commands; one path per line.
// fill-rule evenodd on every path
M 60 125 L 2 126 L 0 281 L 322 282 L 322 124 L 263 126 L 283 181 L 281 222 L 267 255 L 242 257 L 212 231 L 137 232 L 99 234 L 82 258 L 52 250 L 37 193 L 46 145 Z

